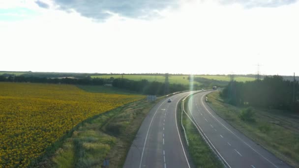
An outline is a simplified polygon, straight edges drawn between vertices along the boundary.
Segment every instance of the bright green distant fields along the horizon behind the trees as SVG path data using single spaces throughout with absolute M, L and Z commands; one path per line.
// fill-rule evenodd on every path
M 121 75 L 97 75 L 91 76 L 91 78 L 121 78 Z M 171 84 L 189 84 L 188 75 L 170 75 L 169 76 L 169 83 Z M 195 77 L 207 78 L 207 79 L 214 79 L 218 81 L 230 81 L 229 76 L 216 76 L 216 75 L 195 75 Z M 157 81 L 157 82 L 165 82 L 165 76 L 163 75 L 123 75 L 123 78 L 140 81 L 142 79 L 146 79 L 149 82 Z M 254 81 L 254 78 L 250 77 L 235 77 L 235 80 L 238 82 L 246 82 L 246 81 Z M 198 82 L 194 82 L 194 84 L 200 84 Z

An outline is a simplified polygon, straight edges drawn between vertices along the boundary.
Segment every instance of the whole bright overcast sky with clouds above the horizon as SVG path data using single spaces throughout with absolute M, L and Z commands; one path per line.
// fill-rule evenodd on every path
M 297 0 L 0 0 L 0 71 L 299 74 Z

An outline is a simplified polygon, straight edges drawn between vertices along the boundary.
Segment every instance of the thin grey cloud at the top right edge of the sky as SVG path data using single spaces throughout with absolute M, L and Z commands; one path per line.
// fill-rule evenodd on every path
M 221 4 L 239 3 L 246 8 L 253 7 L 278 7 L 295 3 L 297 0 L 219 0 Z

